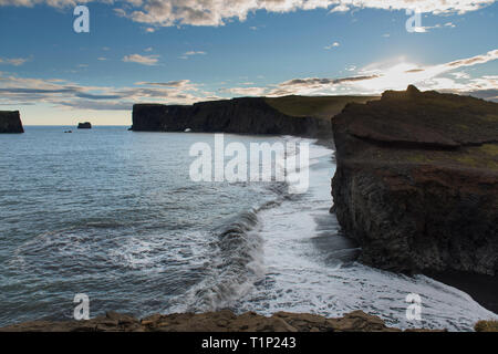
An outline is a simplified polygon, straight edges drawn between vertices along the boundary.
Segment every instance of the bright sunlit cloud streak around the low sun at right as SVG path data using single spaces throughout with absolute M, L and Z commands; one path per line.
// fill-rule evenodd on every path
M 232 87 L 222 92 L 239 95 L 282 96 L 330 95 L 330 94 L 380 94 L 385 90 L 404 90 L 416 84 L 421 90 L 449 92 L 484 92 L 498 87 L 498 76 L 470 77 L 455 72 L 458 69 L 484 64 L 498 59 L 498 50 L 485 54 L 460 59 L 437 65 L 415 65 L 404 59 L 384 63 L 372 63 L 361 70 L 359 75 L 346 77 L 292 79 L 268 87 Z M 354 67 L 354 70 L 356 70 Z

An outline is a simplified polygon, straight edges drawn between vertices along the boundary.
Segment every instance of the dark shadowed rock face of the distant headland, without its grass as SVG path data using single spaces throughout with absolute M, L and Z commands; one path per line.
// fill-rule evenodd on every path
M 191 132 L 330 135 L 330 123 L 314 117 L 286 115 L 260 97 L 201 102 L 189 106 L 135 104 L 135 132 Z

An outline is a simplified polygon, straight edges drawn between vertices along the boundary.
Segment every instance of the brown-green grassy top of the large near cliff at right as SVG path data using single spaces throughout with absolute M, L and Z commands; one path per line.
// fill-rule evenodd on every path
M 355 160 L 498 171 L 494 102 L 409 86 L 349 104 L 334 117 L 333 131 L 340 155 Z

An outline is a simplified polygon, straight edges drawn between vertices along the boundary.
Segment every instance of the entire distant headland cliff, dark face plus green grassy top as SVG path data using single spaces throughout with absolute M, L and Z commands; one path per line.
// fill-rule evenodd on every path
M 191 132 L 331 136 L 330 117 L 369 97 L 242 97 L 194 105 L 135 104 L 135 132 Z

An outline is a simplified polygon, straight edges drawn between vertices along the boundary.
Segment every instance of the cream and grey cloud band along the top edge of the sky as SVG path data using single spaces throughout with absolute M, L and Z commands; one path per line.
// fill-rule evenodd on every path
M 104 2 L 121 6 L 115 13 L 135 22 L 154 27 L 224 25 L 230 20 L 245 21 L 258 10 L 292 12 L 297 10 L 331 9 L 347 12 L 355 9 L 405 10 L 417 9 L 434 14 L 466 13 L 479 10 L 495 0 L 79 0 L 79 4 Z M 74 7 L 75 0 L 0 0 L 0 6 L 33 7 L 48 4 L 55 8 Z

